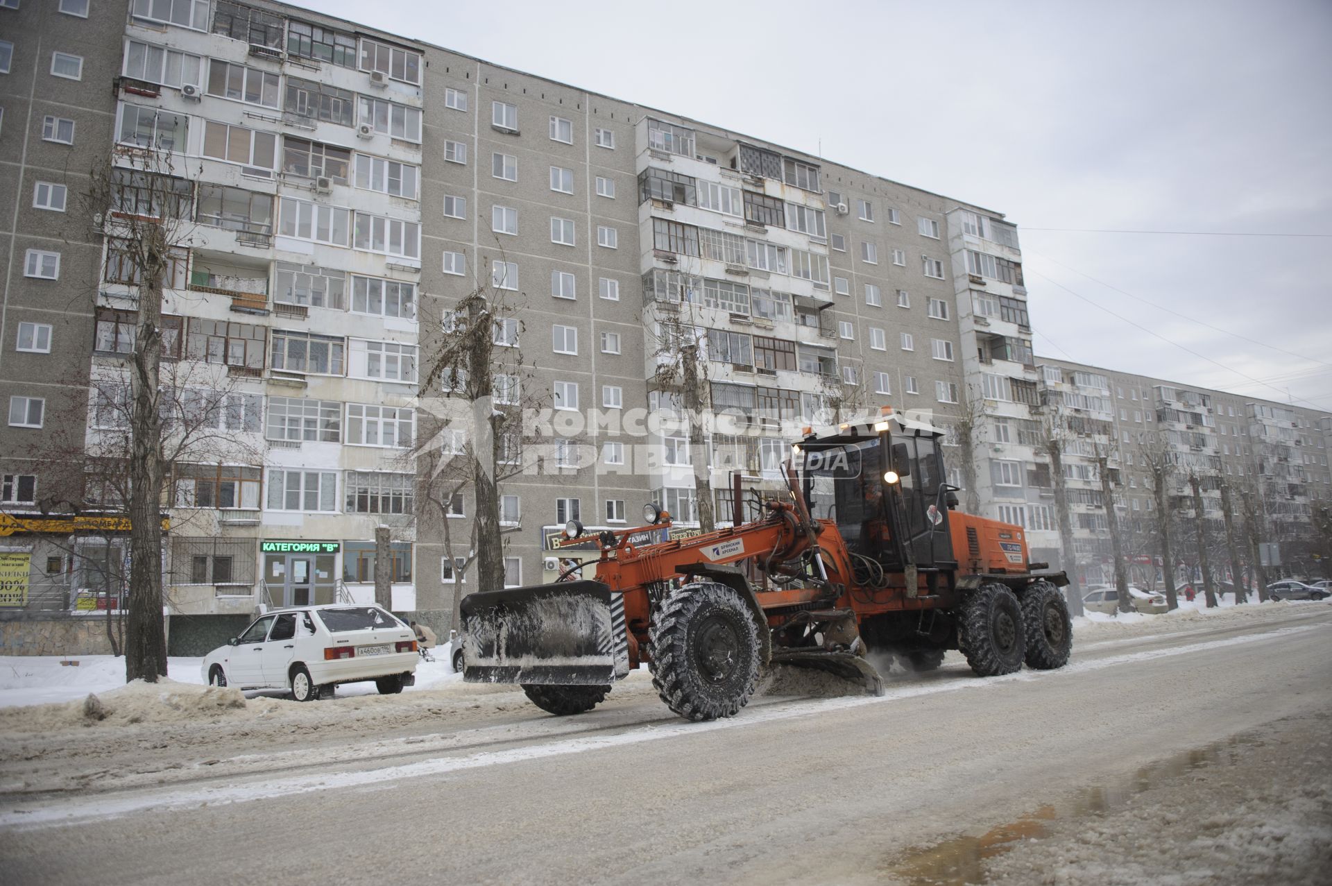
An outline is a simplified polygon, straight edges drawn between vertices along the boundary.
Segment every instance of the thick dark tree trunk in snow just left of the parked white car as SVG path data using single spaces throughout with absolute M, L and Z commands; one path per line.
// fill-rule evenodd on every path
M 131 353 L 129 464 L 129 625 L 125 636 L 125 679 L 155 683 L 166 675 L 166 632 L 163 617 L 163 426 L 157 397 L 163 352 L 163 274 L 166 236 L 156 225 L 144 230 L 145 256 L 139 286 L 139 329 Z M 111 601 L 107 601 L 108 612 Z

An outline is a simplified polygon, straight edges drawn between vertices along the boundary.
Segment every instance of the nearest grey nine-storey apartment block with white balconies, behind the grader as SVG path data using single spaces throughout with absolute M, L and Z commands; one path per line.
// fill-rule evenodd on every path
M 1056 546 L 1028 484 L 1052 370 L 1002 213 L 276 3 L 0 0 L 0 517 L 31 557 L 11 610 L 115 602 L 97 588 L 124 528 L 72 514 L 91 496 L 44 461 L 53 438 L 124 433 L 136 281 L 79 200 L 105 159 L 131 212 L 144 157 L 169 157 L 190 222 L 169 372 L 185 402 L 222 402 L 164 502 L 173 613 L 370 598 L 381 525 L 394 608 L 448 605 L 472 498 L 442 516 L 412 452 L 465 449 L 433 436 L 449 392 L 421 380 L 478 288 L 523 365 L 496 402 L 546 410 L 501 488 L 509 584 L 554 576 L 569 518 L 622 526 L 657 501 L 687 530 L 698 460 L 725 522 L 734 473 L 771 488 L 801 426 L 882 404 L 975 414 L 978 506 Z M 742 417 L 709 422 L 706 452 L 661 380 L 681 330 L 713 408 Z

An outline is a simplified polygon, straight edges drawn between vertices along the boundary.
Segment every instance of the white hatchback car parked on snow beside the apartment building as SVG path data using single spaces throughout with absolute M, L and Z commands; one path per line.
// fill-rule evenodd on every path
M 204 656 L 200 671 L 210 686 L 280 689 L 310 701 L 365 679 L 381 694 L 400 693 L 416 682 L 418 660 L 416 634 L 392 613 L 373 604 L 333 604 L 260 616 Z

